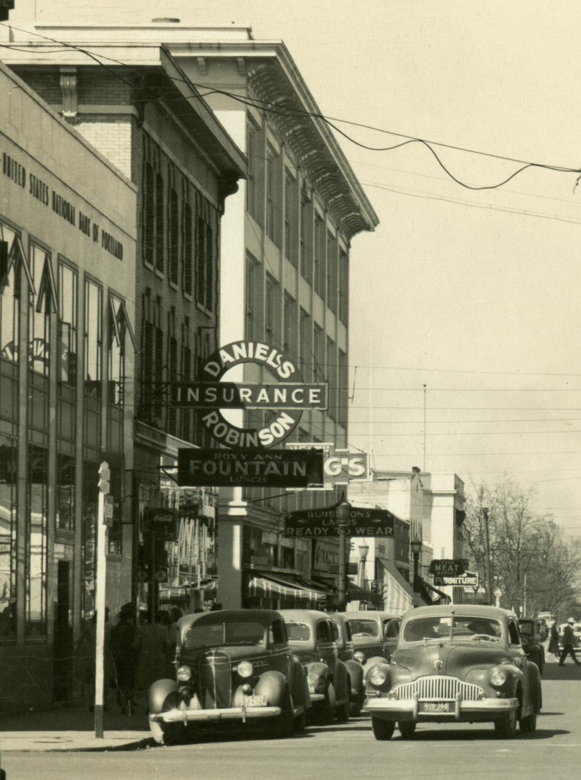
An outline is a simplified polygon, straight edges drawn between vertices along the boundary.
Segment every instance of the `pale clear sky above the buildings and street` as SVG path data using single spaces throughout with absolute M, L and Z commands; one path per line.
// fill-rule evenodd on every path
M 15 24 L 31 4 L 16 0 Z M 248 24 L 285 41 L 322 112 L 358 144 L 405 140 L 391 131 L 461 147 L 432 145 L 471 186 L 521 167 L 489 155 L 581 166 L 577 2 L 95 5 L 36 0 L 47 22 Z M 421 144 L 339 141 L 380 218 L 351 250 L 350 445 L 379 470 L 510 477 L 581 537 L 577 175 L 535 166 L 475 191 Z

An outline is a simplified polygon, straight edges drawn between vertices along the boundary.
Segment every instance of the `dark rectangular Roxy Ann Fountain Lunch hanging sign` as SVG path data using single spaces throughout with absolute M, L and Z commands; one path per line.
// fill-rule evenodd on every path
M 178 484 L 305 488 L 322 480 L 322 452 L 194 449 L 178 450 Z

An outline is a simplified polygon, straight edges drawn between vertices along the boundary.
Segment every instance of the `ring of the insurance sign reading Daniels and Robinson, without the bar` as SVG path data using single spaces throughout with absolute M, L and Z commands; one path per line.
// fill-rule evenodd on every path
M 252 341 L 231 342 L 217 349 L 206 358 L 197 379 L 198 381 L 220 381 L 227 371 L 241 363 L 256 363 L 286 383 L 303 381 L 294 361 L 289 360 L 279 349 Z M 200 419 L 206 431 L 216 441 L 231 449 L 269 449 L 279 445 L 294 431 L 301 420 L 302 413 L 302 409 L 275 410 L 273 420 L 256 428 L 241 428 L 232 424 L 220 409 L 206 410 L 200 415 Z

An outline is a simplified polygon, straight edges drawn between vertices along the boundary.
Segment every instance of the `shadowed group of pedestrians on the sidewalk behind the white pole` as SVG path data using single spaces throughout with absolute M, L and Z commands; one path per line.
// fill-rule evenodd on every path
M 108 622 L 105 612 L 104 643 L 104 706 L 110 708 L 109 690 L 116 690 L 116 703 L 121 712 L 131 714 L 136 706 L 145 707 L 150 686 L 163 677 L 174 677 L 174 656 L 177 636 L 177 622 L 182 611 L 174 607 L 171 611 L 159 610 L 153 622 L 147 613 L 139 614 L 137 625 L 136 605 L 124 605 L 119 612 L 116 626 Z M 89 708 L 93 707 L 95 690 L 95 645 L 97 615 L 86 622 L 83 636 L 77 649 L 80 665 L 80 679 Z M 107 690 L 109 689 L 109 690 Z

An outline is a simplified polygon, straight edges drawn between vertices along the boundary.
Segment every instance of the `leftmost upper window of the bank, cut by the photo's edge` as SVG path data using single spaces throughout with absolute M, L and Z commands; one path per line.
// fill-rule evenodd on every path
M 20 263 L 16 234 L 0 223 L 0 357 L 18 361 Z

